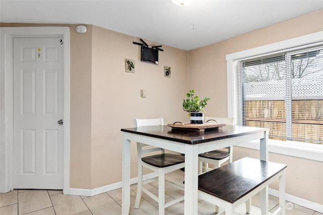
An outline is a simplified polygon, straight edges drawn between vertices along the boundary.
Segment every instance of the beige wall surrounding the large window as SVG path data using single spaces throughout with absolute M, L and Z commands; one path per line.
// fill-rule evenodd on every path
M 323 10 L 240 35 L 188 52 L 188 86 L 210 97 L 206 116 L 227 117 L 226 55 L 261 45 L 323 31 Z M 323 39 L 323 38 L 322 38 Z M 235 147 L 235 159 L 257 156 L 250 149 Z M 282 154 L 270 155 L 273 162 L 288 165 L 287 193 L 323 204 L 323 163 Z

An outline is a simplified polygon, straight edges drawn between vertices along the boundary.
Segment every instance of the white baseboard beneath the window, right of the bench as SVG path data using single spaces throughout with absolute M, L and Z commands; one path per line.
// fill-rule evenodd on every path
M 268 193 L 270 195 L 273 195 L 273 196 L 276 196 L 276 197 L 279 196 L 279 191 L 274 190 L 272 188 L 268 188 Z M 315 210 L 317 212 L 323 213 L 323 205 L 322 204 L 318 204 L 318 203 L 315 203 L 315 202 L 312 202 L 312 201 L 308 201 L 306 199 L 299 198 L 297 196 L 293 196 L 293 195 L 290 195 L 288 193 L 285 194 L 285 198 L 286 198 L 286 201 L 294 203 L 294 205 L 293 205 L 294 208 L 307 207 L 309 209 L 312 209 L 312 210 Z

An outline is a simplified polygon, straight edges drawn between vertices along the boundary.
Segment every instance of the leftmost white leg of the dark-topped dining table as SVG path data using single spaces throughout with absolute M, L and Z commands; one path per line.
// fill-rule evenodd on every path
M 130 140 L 123 133 L 122 143 L 122 214 L 128 215 L 130 208 Z

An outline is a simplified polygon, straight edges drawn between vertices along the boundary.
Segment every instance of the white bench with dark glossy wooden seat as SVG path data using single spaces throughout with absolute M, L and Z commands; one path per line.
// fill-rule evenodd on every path
M 226 215 L 279 179 L 279 207 L 273 214 L 286 214 L 285 168 L 283 164 L 245 157 L 198 176 L 198 197 L 219 206 Z M 266 197 L 266 210 L 268 213 Z M 221 211 L 224 212 L 224 211 Z M 247 211 L 250 212 L 250 211 Z

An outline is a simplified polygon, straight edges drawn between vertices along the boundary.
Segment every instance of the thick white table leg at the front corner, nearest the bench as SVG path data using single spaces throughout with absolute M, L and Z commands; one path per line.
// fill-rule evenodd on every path
M 198 150 L 192 145 L 185 146 L 185 197 L 184 213 L 197 214 L 198 201 Z

